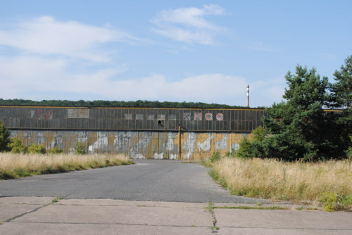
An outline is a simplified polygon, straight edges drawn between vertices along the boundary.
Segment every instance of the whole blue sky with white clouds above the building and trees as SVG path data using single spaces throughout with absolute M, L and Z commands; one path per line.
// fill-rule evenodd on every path
M 1 0 L 0 98 L 282 101 L 297 64 L 333 81 L 352 1 Z

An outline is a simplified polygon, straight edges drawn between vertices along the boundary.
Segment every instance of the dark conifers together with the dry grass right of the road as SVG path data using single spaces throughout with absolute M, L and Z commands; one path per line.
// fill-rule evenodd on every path
M 235 195 L 352 211 L 352 56 L 334 84 L 300 65 L 285 78 L 285 101 L 237 150 L 213 153 L 210 175 Z

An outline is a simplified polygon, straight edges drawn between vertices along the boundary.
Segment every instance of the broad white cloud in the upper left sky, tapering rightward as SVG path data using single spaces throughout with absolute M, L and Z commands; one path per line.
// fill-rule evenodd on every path
M 111 27 L 59 22 L 51 16 L 17 23 L 11 30 L 0 30 L 0 45 L 27 53 L 68 56 L 94 62 L 111 60 L 107 51 L 99 49 L 101 44 L 134 40 L 137 39 Z

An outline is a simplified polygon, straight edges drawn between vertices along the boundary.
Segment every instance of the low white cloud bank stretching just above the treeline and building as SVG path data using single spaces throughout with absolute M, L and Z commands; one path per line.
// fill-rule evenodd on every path
M 205 74 L 170 81 L 163 75 L 117 80 L 127 65 L 92 72 L 73 72 L 60 59 L 0 57 L 2 99 L 106 99 L 226 103 L 246 106 L 244 77 Z M 284 82 L 251 83 L 251 106 L 268 106 L 282 99 Z M 72 98 L 75 97 L 75 98 Z M 94 97 L 94 98 L 92 98 Z M 269 104 L 270 104 L 269 103 Z

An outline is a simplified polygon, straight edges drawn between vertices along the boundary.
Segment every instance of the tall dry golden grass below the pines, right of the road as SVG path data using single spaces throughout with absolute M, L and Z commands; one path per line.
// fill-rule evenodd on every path
M 286 163 L 221 158 L 210 174 L 233 194 L 289 201 L 319 201 L 322 193 L 352 196 L 351 161 Z

